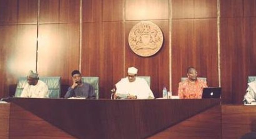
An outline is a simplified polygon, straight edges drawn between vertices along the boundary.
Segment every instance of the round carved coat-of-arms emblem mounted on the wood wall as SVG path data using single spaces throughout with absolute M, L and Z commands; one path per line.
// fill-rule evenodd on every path
M 156 24 L 143 21 L 131 29 L 128 41 L 135 54 L 149 57 L 156 54 L 162 47 L 163 33 Z

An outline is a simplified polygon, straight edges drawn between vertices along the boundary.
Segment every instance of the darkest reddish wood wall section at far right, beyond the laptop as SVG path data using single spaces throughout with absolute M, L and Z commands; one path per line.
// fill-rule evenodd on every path
M 220 1 L 221 86 L 224 103 L 242 103 L 247 77 L 256 75 L 256 1 Z

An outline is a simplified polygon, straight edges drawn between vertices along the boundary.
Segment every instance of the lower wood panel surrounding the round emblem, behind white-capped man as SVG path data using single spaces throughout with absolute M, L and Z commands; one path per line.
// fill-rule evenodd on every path
M 140 57 L 136 55 L 128 43 L 129 32 L 138 22 L 125 23 L 125 69 L 134 66 L 138 69 L 138 76 L 151 77 L 151 90 L 155 97 L 162 97 L 163 86 L 169 90 L 169 21 L 153 21 L 161 30 L 164 36 L 162 48 L 153 56 Z

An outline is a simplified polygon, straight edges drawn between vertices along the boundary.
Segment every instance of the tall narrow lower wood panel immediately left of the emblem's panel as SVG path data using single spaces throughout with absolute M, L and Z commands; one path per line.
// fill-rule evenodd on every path
M 123 22 L 103 23 L 103 42 L 99 54 L 101 60 L 98 61 L 100 92 L 104 93 L 100 96 L 103 98 L 110 98 L 110 90 L 123 75 L 123 26 Z

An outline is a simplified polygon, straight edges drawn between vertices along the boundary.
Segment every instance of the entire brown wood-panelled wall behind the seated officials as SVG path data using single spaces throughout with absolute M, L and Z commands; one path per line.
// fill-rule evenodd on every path
M 180 77 L 195 66 L 208 86 L 218 86 L 221 75 L 225 103 L 241 103 L 247 76 L 256 75 L 256 0 L 219 1 L 220 73 L 217 0 L 40 0 L 38 72 L 61 76 L 63 96 L 71 71 L 80 69 L 83 76 L 99 76 L 100 98 L 109 98 L 135 66 L 139 75 L 151 76 L 161 97 L 164 85 L 176 95 Z M 37 0 L 0 0 L 0 76 L 7 79 L 0 81 L 0 97 L 13 95 L 17 78 L 36 68 L 37 16 Z M 144 20 L 164 34 L 163 47 L 148 58 L 134 54 L 127 41 Z

